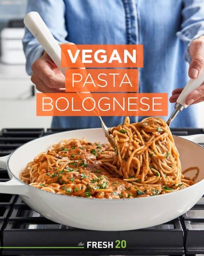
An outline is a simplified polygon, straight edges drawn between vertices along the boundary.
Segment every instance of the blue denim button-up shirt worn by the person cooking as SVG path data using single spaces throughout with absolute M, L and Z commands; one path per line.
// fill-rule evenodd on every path
M 189 44 L 204 35 L 204 0 L 28 0 L 58 42 L 75 44 L 143 44 L 139 69 L 141 93 L 166 93 L 188 81 Z M 26 29 L 23 39 L 27 72 L 42 48 Z M 169 103 L 169 114 L 174 104 Z M 171 127 L 196 127 L 197 106 L 184 109 Z M 163 117 L 167 120 L 167 117 Z M 124 117 L 104 117 L 112 127 Z M 131 122 L 142 117 L 132 116 Z M 100 127 L 98 117 L 54 117 L 53 127 Z

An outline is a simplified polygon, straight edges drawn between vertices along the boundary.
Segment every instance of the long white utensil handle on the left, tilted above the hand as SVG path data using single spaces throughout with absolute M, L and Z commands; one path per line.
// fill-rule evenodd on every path
M 38 40 L 42 48 L 65 75 L 65 68 L 61 67 L 61 48 L 48 27 L 36 11 L 29 12 L 24 18 L 24 24 Z

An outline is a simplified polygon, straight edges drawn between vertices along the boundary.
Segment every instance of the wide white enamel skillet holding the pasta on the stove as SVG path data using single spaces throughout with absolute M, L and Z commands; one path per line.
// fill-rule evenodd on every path
M 197 183 L 183 190 L 133 199 L 90 199 L 58 195 L 25 184 L 18 179 L 29 161 L 67 138 L 106 143 L 101 128 L 66 131 L 24 144 L 9 156 L 0 158 L 0 168 L 8 170 L 10 181 L 0 182 L 0 193 L 18 194 L 34 211 L 55 222 L 81 229 L 120 231 L 141 229 L 172 220 L 193 207 L 204 194 L 204 135 L 174 136 L 182 169 L 200 168 Z M 190 141 L 193 140 L 194 142 Z M 191 177 L 191 174 L 188 174 Z M 193 173 L 192 173 L 193 177 Z

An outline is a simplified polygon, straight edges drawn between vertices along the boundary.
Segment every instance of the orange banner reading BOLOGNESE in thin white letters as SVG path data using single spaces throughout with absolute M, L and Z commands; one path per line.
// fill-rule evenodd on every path
M 37 116 L 167 116 L 167 93 L 37 93 Z

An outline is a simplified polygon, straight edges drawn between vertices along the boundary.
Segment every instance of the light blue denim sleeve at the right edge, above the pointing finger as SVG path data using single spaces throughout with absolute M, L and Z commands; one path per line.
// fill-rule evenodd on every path
M 204 35 L 204 3 L 203 0 L 183 0 L 183 6 L 181 30 L 177 36 L 185 44 L 184 59 L 190 63 L 189 45 Z

